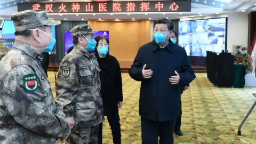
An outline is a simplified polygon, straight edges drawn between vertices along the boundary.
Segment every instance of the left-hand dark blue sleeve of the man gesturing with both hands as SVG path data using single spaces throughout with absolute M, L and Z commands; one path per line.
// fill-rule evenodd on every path
M 135 80 L 135 81 L 142 81 L 144 78 L 142 76 L 142 67 L 140 62 L 140 49 L 133 61 L 132 67 L 129 70 L 129 75 Z

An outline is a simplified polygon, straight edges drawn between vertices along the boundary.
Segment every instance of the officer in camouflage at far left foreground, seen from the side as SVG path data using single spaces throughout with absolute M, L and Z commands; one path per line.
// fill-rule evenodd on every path
M 54 23 L 46 11 L 18 12 L 11 19 L 15 42 L 0 62 L 0 143 L 55 144 L 68 137 L 70 126 L 41 66 L 41 53 L 55 44 Z

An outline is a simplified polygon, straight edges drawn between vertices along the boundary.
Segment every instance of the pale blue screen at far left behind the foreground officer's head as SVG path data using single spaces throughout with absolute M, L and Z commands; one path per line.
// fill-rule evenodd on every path
M 0 20 L 0 43 L 5 44 L 11 49 L 15 41 L 15 27 L 11 20 Z M 52 26 L 52 36 L 55 37 L 55 26 Z

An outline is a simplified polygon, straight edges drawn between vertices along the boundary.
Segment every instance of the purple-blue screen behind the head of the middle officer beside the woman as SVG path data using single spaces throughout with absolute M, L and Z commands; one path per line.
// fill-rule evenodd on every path
M 107 39 L 109 39 L 109 31 L 108 30 L 100 30 L 97 33 L 93 34 L 93 38 L 95 38 L 97 36 L 103 36 L 103 37 L 106 37 Z M 74 46 L 73 37 L 70 34 L 70 31 L 65 31 L 65 55 L 68 52 L 68 48 L 71 46 Z

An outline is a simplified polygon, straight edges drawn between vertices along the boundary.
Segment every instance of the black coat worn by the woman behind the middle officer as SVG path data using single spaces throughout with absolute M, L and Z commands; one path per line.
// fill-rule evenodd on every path
M 101 97 L 104 106 L 104 115 L 118 113 L 118 101 L 123 101 L 122 76 L 119 63 L 115 57 L 107 54 L 100 58 L 95 54 L 100 66 Z

